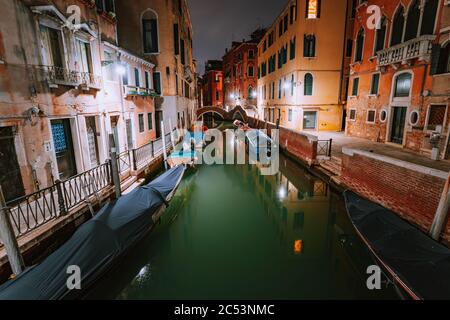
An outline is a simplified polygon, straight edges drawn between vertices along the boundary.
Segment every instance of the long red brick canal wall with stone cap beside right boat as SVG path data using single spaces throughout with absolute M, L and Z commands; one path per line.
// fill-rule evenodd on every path
M 349 189 L 430 230 L 447 173 L 368 152 L 344 149 L 341 181 Z M 444 240 L 450 243 L 450 223 Z

